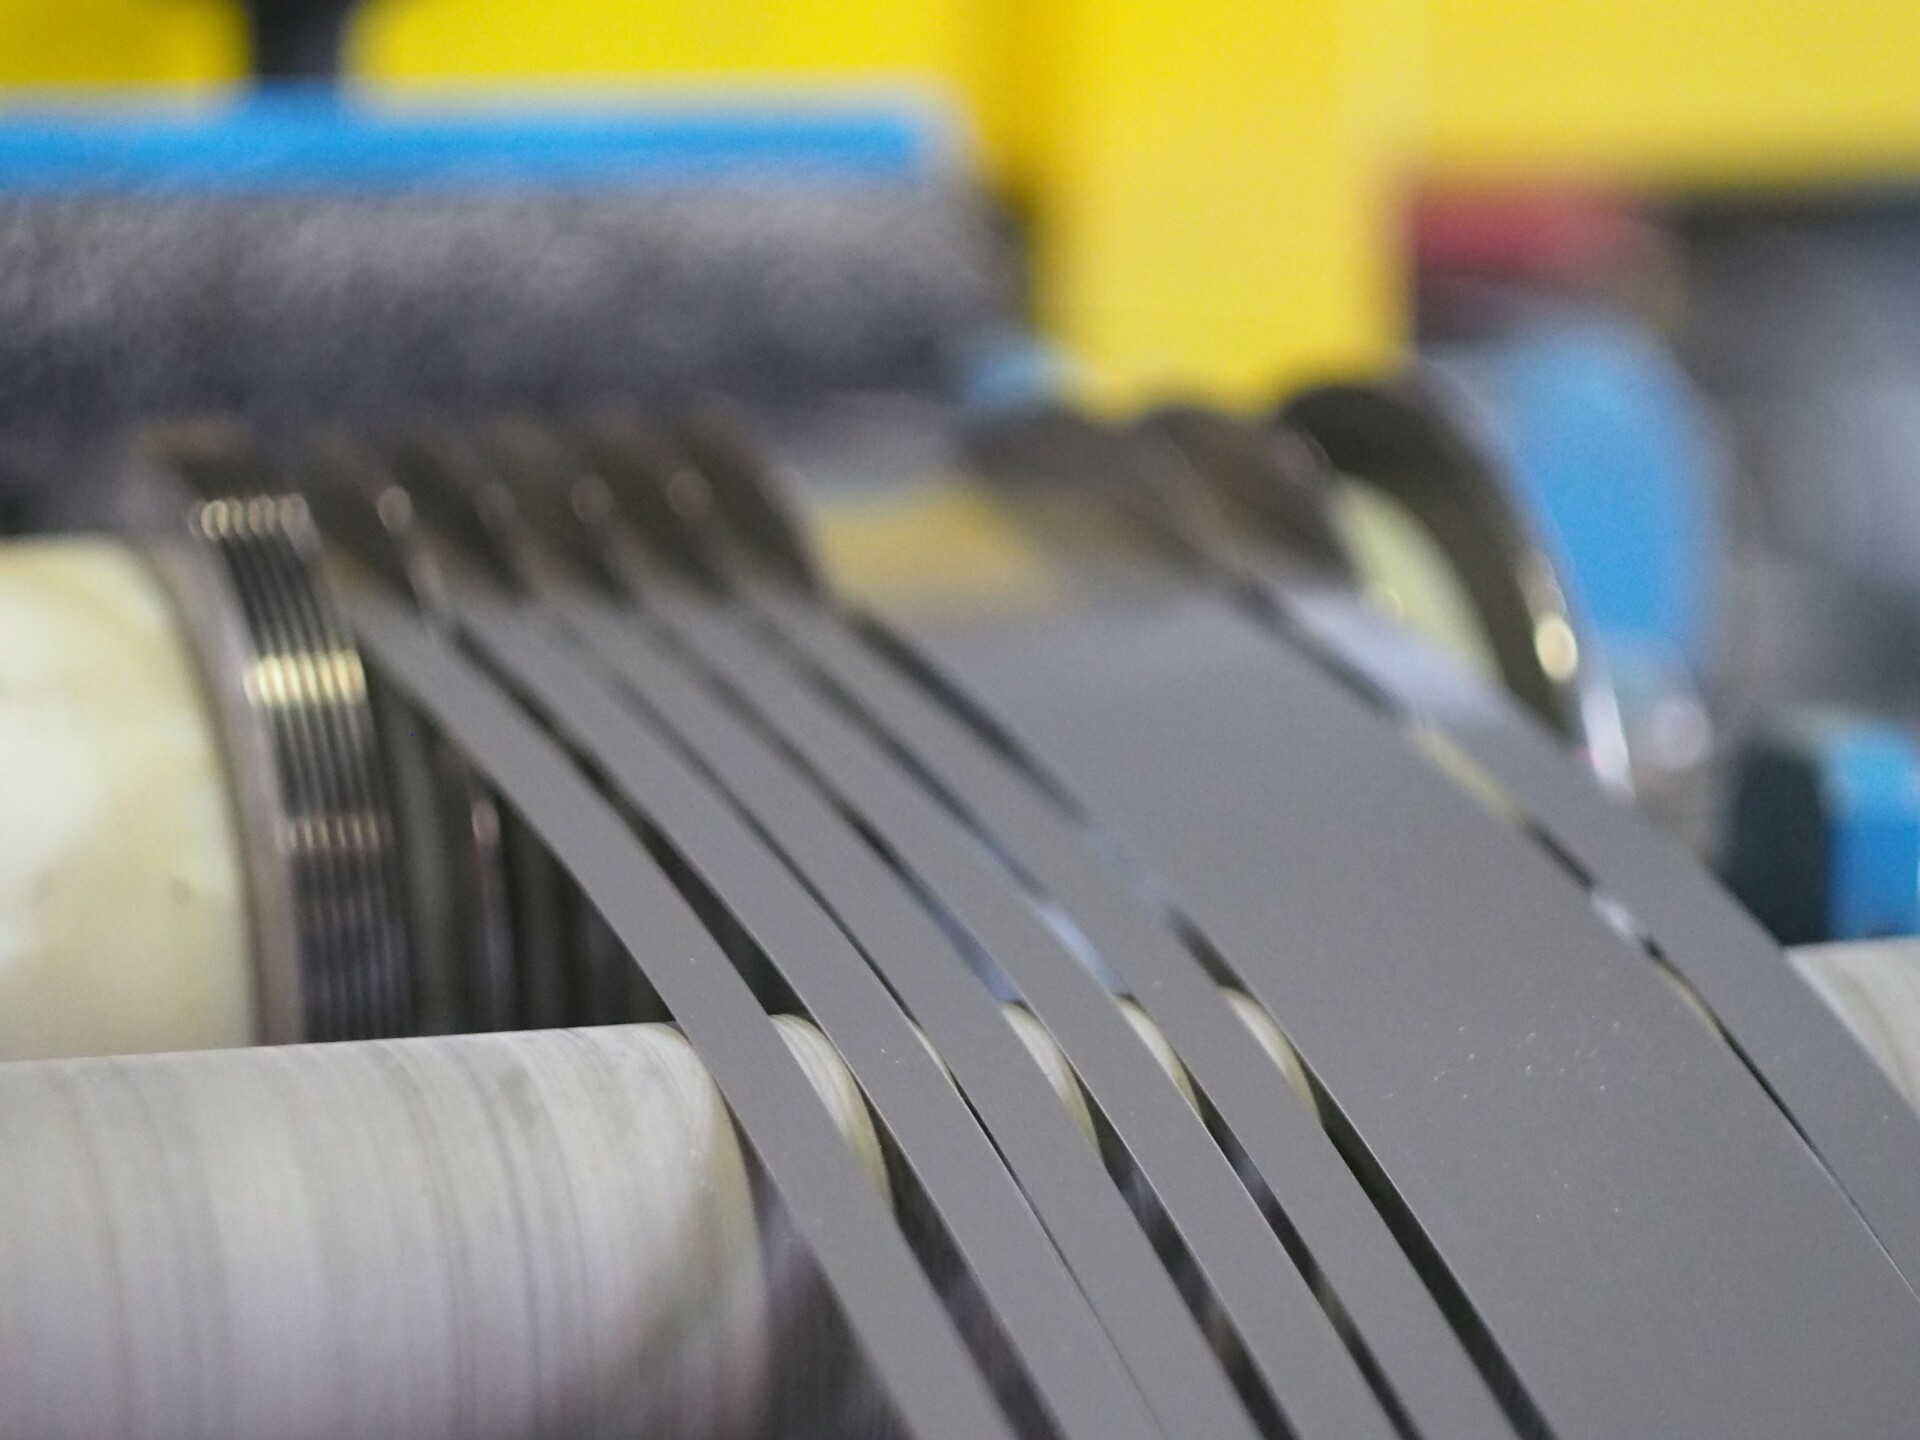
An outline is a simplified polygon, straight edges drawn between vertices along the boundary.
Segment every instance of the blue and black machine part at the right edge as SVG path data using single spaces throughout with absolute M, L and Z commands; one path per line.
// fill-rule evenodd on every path
M 1920 933 L 1920 747 L 1832 710 L 1768 728 L 1734 770 L 1726 879 L 1784 945 Z

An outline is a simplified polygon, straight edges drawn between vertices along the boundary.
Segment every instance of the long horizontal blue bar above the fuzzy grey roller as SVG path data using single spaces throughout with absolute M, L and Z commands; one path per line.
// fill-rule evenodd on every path
M 0 194 L 914 180 L 950 167 L 958 134 L 939 104 L 904 92 L 459 106 L 292 83 L 198 106 L 15 98 L 0 108 Z

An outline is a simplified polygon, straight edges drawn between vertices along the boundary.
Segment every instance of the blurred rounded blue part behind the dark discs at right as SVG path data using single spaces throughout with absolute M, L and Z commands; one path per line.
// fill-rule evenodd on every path
M 1701 674 L 1724 449 L 1667 346 L 1569 307 L 1432 359 L 1482 411 L 1603 647 Z

